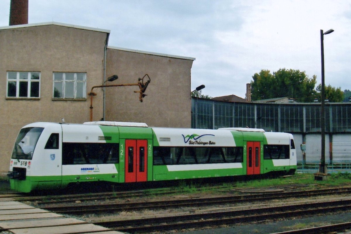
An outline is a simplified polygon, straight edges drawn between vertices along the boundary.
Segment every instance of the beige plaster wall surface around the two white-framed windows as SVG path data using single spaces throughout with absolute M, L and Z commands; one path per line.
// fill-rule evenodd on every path
M 53 72 L 86 72 L 87 89 L 103 80 L 104 47 L 109 31 L 61 25 L 0 28 L 0 172 L 8 171 L 20 128 L 37 121 L 89 121 L 90 99 L 54 100 Z M 40 98 L 6 98 L 7 71 L 40 72 Z M 102 92 L 94 97 L 102 113 Z

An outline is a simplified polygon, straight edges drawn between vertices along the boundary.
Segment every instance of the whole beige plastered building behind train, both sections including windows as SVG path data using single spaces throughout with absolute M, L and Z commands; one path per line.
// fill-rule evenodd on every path
M 90 121 L 90 93 L 102 84 L 151 82 L 139 101 L 138 86 L 94 88 L 93 121 L 191 126 L 194 58 L 108 46 L 109 30 L 48 22 L 0 27 L 0 173 L 6 174 L 20 128 L 31 122 Z M 112 75 L 119 79 L 105 82 Z M 144 79 L 146 81 L 147 78 Z

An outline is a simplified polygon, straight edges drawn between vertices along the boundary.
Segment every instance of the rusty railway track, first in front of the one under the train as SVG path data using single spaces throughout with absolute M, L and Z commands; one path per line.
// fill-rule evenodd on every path
M 197 207 L 209 206 L 226 203 L 243 203 L 254 202 L 262 200 L 285 199 L 291 197 L 307 197 L 318 195 L 333 195 L 340 193 L 350 193 L 351 187 L 347 188 L 333 188 L 320 190 L 306 190 L 296 192 L 282 192 L 282 193 L 263 193 L 263 194 L 247 194 L 235 196 L 221 196 L 213 198 L 190 198 L 177 200 L 163 200 L 163 201 L 149 201 L 149 202 L 117 202 L 106 203 L 98 205 L 73 205 L 73 206 L 39 206 L 42 209 L 50 210 L 57 213 L 65 214 L 88 214 L 88 213 L 107 213 L 130 210 L 143 209 L 161 209 L 170 207 Z M 38 203 L 38 205 L 41 205 Z

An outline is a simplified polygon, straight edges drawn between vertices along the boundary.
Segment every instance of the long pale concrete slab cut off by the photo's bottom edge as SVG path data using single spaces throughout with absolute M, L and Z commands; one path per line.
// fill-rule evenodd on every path
M 93 225 L 92 223 L 68 225 L 62 227 L 36 227 L 36 228 L 22 228 L 9 229 L 14 234 L 67 234 L 67 233 L 84 233 L 84 232 L 98 232 L 108 231 L 108 228 Z M 99 232 L 100 233 L 100 232 Z

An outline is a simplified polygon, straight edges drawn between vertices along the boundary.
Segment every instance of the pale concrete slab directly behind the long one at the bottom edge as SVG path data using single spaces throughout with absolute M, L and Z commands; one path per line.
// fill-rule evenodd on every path
M 85 221 L 74 219 L 74 218 L 57 218 L 57 219 L 44 219 L 44 220 L 28 220 L 28 221 L 12 221 L 12 222 L 0 222 L 2 228 L 33 228 L 33 227 L 46 227 L 46 226 L 58 226 L 65 224 L 81 224 L 86 223 Z

